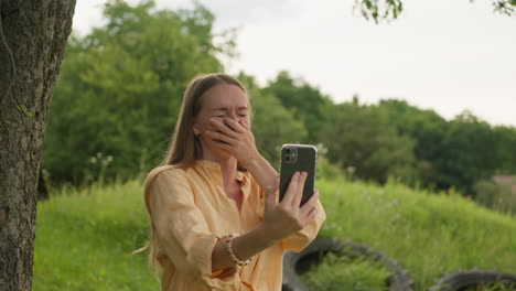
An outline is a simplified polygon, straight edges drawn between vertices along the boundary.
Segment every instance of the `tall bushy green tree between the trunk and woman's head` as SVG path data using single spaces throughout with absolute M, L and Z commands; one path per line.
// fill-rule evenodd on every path
M 98 175 L 97 153 L 114 158 L 108 176 L 158 163 L 187 82 L 223 69 L 214 17 L 200 4 L 157 11 L 153 1 L 114 0 L 104 15 L 105 26 L 69 42 L 55 89 L 43 165 L 57 181 Z

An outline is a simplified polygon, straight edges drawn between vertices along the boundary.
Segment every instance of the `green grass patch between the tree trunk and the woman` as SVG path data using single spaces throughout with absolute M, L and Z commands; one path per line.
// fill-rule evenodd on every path
M 33 290 L 160 290 L 141 184 L 65 191 L 37 205 Z

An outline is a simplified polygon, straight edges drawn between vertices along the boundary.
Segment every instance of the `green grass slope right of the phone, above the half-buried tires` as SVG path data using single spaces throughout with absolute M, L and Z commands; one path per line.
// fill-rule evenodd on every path
M 516 272 L 516 219 L 459 195 L 389 183 L 319 184 L 327 220 L 320 236 L 367 244 L 398 260 L 426 290 L 445 272 Z

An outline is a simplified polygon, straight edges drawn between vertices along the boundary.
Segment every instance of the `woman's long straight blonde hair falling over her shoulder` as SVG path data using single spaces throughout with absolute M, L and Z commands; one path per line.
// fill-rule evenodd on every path
M 147 206 L 147 212 L 150 222 L 150 239 L 142 248 L 135 250 L 132 254 L 150 249 L 149 265 L 155 272 L 162 271 L 162 266 L 157 259 L 157 233 L 154 224 L 152 223 L 151 208 L 150 208 L 150 186 L 153 179 L 163 170 L 171 168 L 185 169 L 192 166 L 195 160 L 202 158 L 202 147 L 197 137 L 193 131 L 193 123 L 203 104 L 204 94 L 218 84 L 230 84 L 238 86 L 247 96 L 247 90 L 236 78 L 223 74 L 206 74 L 198 75 L 192 79 L 186 87 L 183 95 L 183 101 L 175 123 L 174 132 L 171 136 L 170 146 L 164 154 L 160 165 L 153 169 L 146 179 L 143 193 Z M 247 99 L 250 112 L 249 98 Z

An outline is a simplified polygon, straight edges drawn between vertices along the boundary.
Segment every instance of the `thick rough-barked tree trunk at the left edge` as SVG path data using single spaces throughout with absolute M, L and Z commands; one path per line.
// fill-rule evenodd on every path
M 0 290 L 31 290 L 40 152 L 75 0 L 0 0 Z

